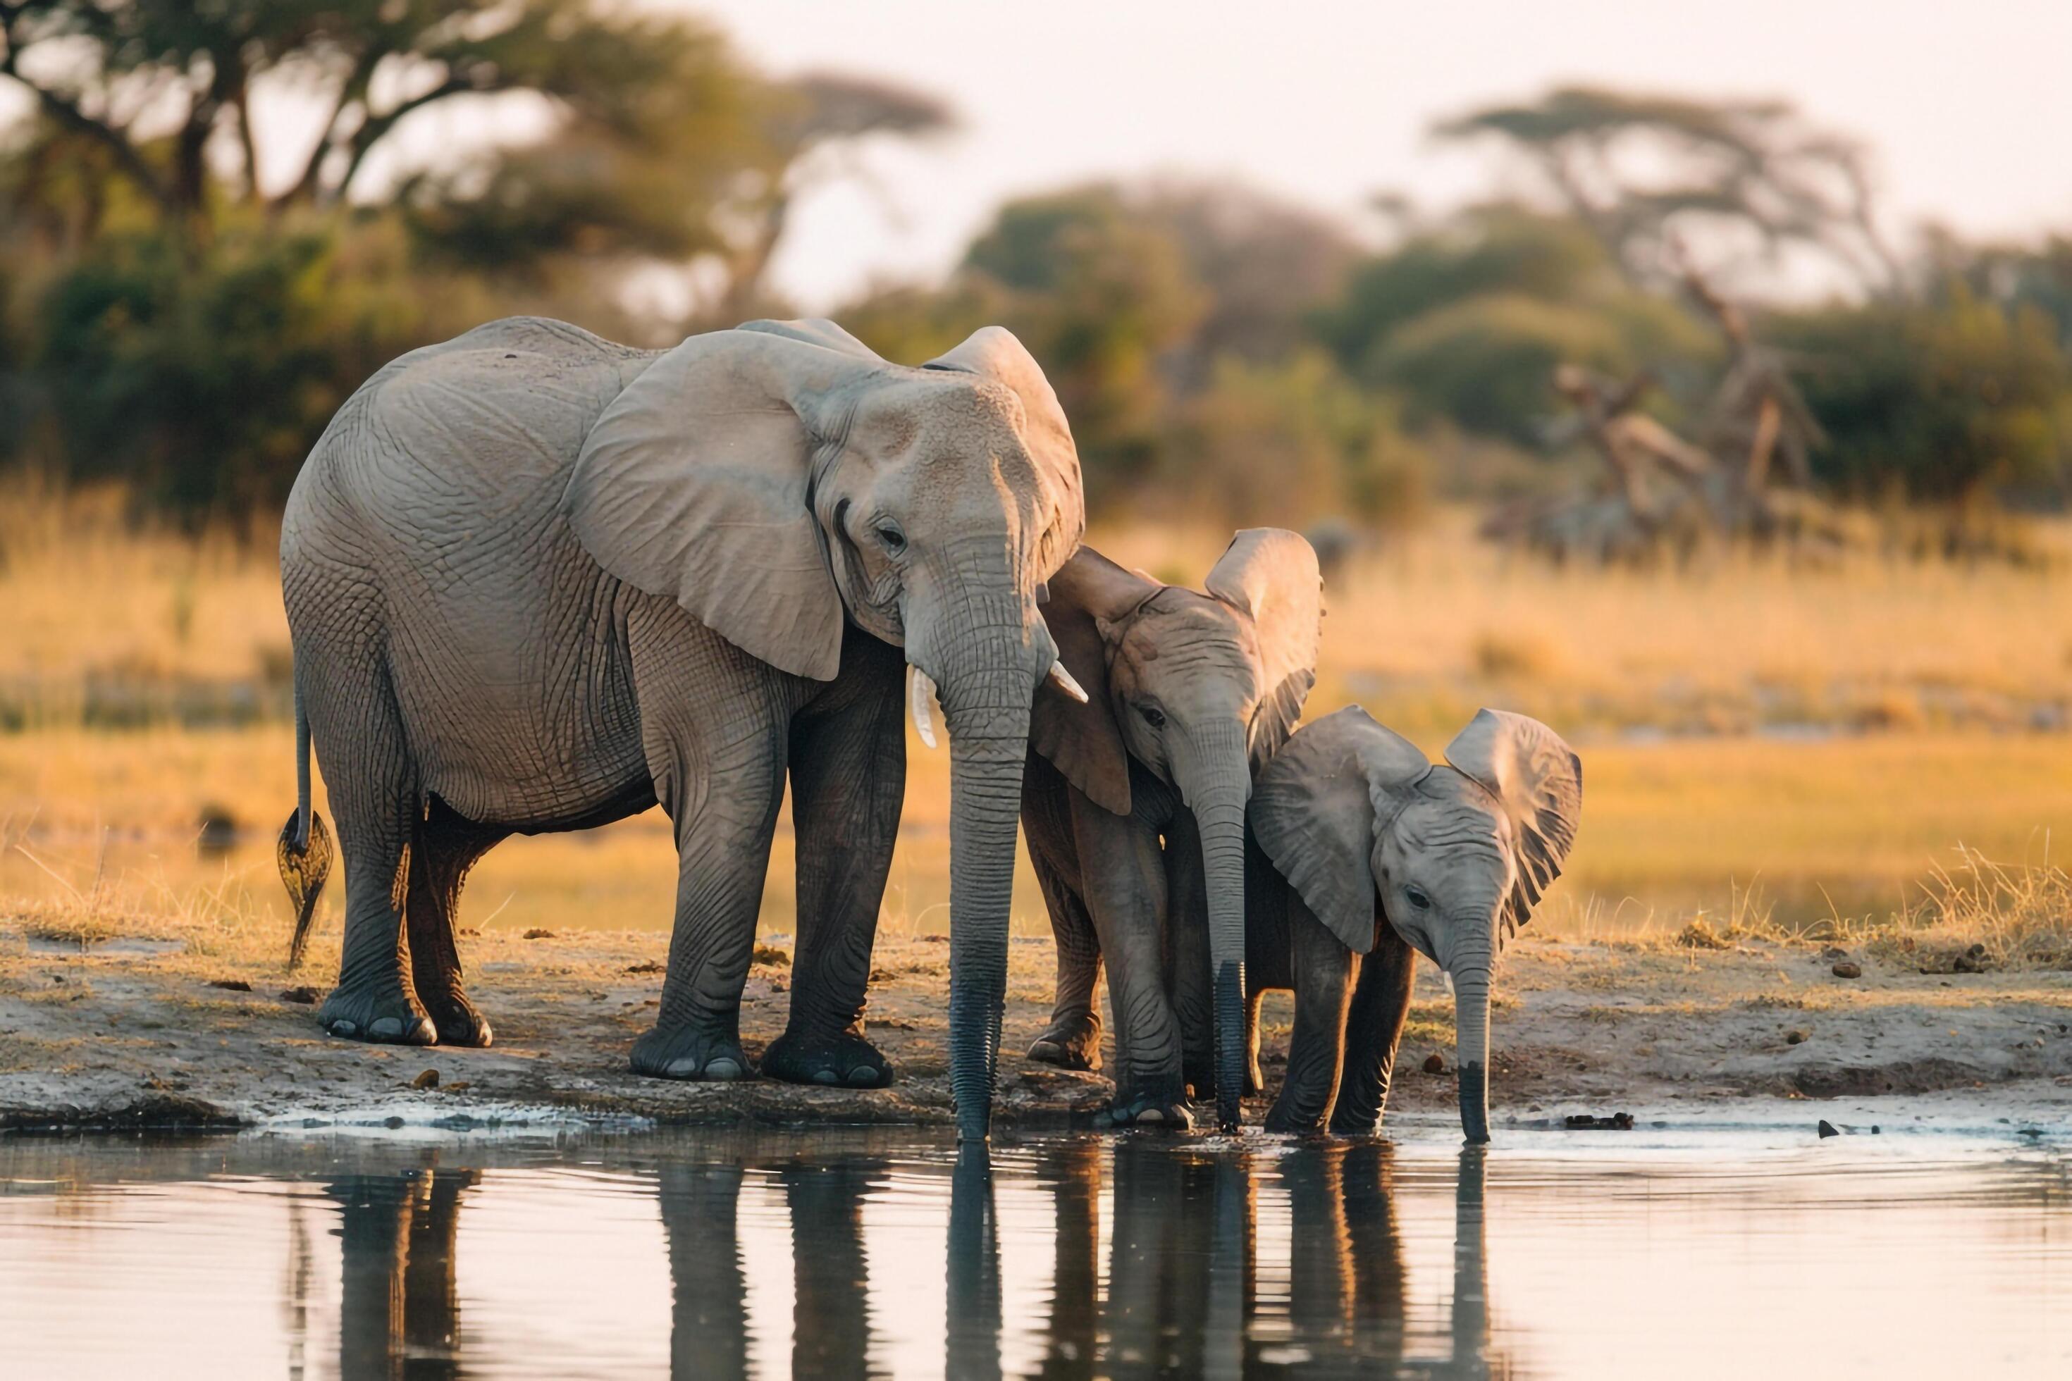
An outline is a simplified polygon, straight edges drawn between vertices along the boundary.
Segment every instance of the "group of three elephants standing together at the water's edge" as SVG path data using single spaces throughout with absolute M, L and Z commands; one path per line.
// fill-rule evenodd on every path
M 1494 710 L 1440 766 L 1359 708 L 1297 729 L 1324 615 L 1301 536 L 1243 530 L 1187 590 L 1084 528 L 1065 414 L 999 327 L 912 369 L 831 321 L 649 352 L 520 317 L 387 364 L 282 524 L 296 959 L 334 851 L 346 872 L 319 1021 L 487 1046 L 454 940 L 468 868 L 659 803 L 675 921 L 632 1066 L 748 1077 L 740 998 L 789 781 L 792 1010 L 760 1073 L 891 1083 L 864 988 L 905 706 L 932 741 L 939 700 L 963 1139 L 990 1124 L 1024 832 L 1059 954 L 1028 1054 L 1100 1068 L 1106 969 L 1109 1122 L 1185 1126 L 1214 1099 L 1235 1128 L 1258 996 L 1293 988 L 1266 1126 L 1372 1128 L 1421 952 L 1452 981 L 1461 1120 L 1486 1141 L 1490 971 L 1575 841 L 1581 762 Z

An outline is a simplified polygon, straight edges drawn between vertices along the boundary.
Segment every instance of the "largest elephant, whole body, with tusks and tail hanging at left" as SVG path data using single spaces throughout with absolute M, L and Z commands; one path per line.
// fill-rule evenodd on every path
M 798 959 L 762 1073 L 887 1083 L 862 1006 L 903 646 L 949 721 L 951 1077 L 984 1137 L 1030 698 L 1055 663 L 1036 592 L 1082 528 L 1063 412 L 997 327 L 924 369 L 827 321 L 640 352 L 512 319 L 396 360 L 334 418 L 282 530 L 298 727 L 346 861 L 321 1023 L 489 1044 L 452 938 L 468 865 L 659 801 L 675 928 L 632 1064 L 748 1075 L 740 992 L 789 772 Z M 313 894 L 300 768 L 282 855 Z

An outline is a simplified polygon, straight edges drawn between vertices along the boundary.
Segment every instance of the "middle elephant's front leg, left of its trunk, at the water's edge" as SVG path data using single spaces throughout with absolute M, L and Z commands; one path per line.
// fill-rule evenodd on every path
M 1117 1124 L 1191 1126 L 1179 1023 L 1164 988 L 1167 874 L 1158 830 L 1073 791 L 1073 836 L 1086 909 L 1109 967 L 1117 1064 L 1111 1116 Z

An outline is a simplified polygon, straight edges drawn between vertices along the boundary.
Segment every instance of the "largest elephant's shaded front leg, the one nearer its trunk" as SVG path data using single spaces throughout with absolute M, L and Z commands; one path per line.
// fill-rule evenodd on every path
M 883 1089 L 893 1062 L 864 1039 L 864 986 L 905 797 L 899 650 L 850 629 L 829 704 L 792 723 L 798 944 L 792 1021 L 762 1052 L 789 1083 Z

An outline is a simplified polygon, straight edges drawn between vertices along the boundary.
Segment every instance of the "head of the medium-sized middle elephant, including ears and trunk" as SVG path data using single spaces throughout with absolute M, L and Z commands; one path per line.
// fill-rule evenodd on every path
M 1088 702 L 1038 692 L 1030 741 L 1106 810 L 1129 814 L 1135 758 L 1196 814 L 1229 1128 L 1245 1068 L 1245 801 L 1316 683 L 1324 607 L 1316 553 L 1280 528 L 1239 532 L 1204 586 L 1164 586 L 1090 549 L 1067 561 L 1044 615 Z

